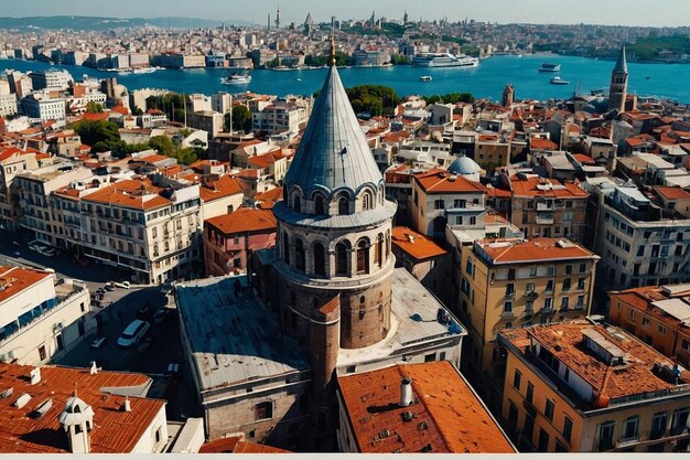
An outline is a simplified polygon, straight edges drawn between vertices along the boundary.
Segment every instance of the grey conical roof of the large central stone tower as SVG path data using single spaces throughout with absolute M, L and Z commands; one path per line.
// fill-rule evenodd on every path
M 332 65 L 314 103 L 309 125 L 284 183 L 310 194 L 320 189 L 357 192 L 365 184 L 378 188 L 384 178 L 349 104 L 337 69 Z

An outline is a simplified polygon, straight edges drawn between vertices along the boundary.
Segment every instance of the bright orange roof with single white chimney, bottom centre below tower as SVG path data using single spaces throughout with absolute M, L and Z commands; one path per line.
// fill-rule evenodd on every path
M 408 407 L 399 405 L 402 377 L 412 379 L 412 404 Z M 516 452 L 448 361 L 398 364 L 341 376 L 338 387 L 360 452 Z

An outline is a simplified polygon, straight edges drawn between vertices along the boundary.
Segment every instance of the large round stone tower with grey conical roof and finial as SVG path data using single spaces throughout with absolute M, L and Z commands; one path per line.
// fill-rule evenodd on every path
M 392 216 L 385 183 L 335 67 L 330 71 L 284 178 L 278 221 L 280 321 L 308 349 L 313 419 L 333 419 L 332 377 L 339 349 L 384 340 L 391 328 Z

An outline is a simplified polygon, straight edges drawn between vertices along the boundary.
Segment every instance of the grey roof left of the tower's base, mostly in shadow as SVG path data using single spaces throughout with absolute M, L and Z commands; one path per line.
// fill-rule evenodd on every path
M 175 287 L 201 391 L 310 368 L 298 342 L 281 336 L 273 312 L 250 293 L 235 296 L 236 280 L 247 290 L 246 276 Z

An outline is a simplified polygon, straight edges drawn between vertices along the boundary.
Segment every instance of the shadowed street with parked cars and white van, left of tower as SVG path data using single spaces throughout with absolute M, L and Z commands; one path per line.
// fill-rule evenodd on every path
M 190 385 L 191 382 L 180 378 L 183 372 L 183 360 L 176 310 L 171 308 L 170 314 L 160 324 L 155 324 L 152 320 L 157 311 L 168 308 L 172 302 L 166 296 L 165 288 L 132 285 L 130 289 L 116 287 L 114 290 L 105 290 L 103 288 L 107 281 L 121 281 L 127 279 L 127 276 L 112 267 L 96 264 L 84 266 L 64 256 L 47 257 L 29 249 L 25 243 L 18 243 L 15 236 L 6 232 L 0 234 L 0 265 L 52 268 L 57 279 L 83 280 L 91 292 L 91 298 L 95 295 L 95 298 L 99 299 L 97 292 L 99 289 L 103 292 L 99 307 L 91 303 L 91 314 L 98 324 L 96 334 L 85 338 L 54 364 L 88 367 L 89 363 L 95 361 L 98 367 L 106 371 L 140 372 L 153 378 L 148 396 L 168 399 L 169 419 L 181 419 L 197 411 L 192 389 L 179 388 L 181 385 Z M 151 346 L 143 352 L 138 351 L 137 346 L 118 347 L 118 338 L 125 328 L 137 319 L 138 311 L 144 307 L 149 307 L 150 312 L 148 321 L 151 328 L 145 336 L 152 339 Z M 91 343 L 97 338 L 106 340 L 96 350 L 91 347 Z M 166 375 L 170 363 L 180 364 L 179 378 Z

